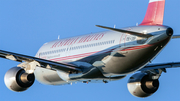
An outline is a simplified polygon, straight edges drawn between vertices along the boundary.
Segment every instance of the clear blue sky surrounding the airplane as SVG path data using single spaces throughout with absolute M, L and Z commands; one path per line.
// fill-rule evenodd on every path
M 34 56 L 45 42 L 104 31 L 96 24 L 135 26 L 144 18 L 148 0 L 1 0 L 0 49 Z M 180 34 L 180 1 L 166 0 L 164 25 Z M 153 63 L 180 61 L 180 39 L 171 40 Z M 18 62 L 0 59 L 1 101 L 179 101 L 180 68 L 168 69 L 160 77 L 158 91 L 148 98 L 136 98 L 127 90 L 130 77 L 108 84 L 77 83 L 49 86 L 34 83 L 16 93 L 6 88 L 4 74 Z

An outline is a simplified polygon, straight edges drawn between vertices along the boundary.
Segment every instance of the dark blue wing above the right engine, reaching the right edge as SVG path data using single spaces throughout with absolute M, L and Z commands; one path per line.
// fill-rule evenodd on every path
M 161 64 L 149 64 L 139 71 L 150 71 L 156 69 L 165 69 L 165 68 L 177 68 L 180 67 L 180 62 L 172 62 L 172 63 L 161 63 Z

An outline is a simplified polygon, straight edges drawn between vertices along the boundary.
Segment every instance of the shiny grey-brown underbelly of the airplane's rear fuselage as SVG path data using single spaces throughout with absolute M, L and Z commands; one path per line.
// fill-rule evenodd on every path
M 140 49 L 125 49 L 117 51 L 109 57 L 104 66 L 99 67 L 103 74 L 127 74 L 150 62 L 169 41 L 165 39 L 156 44 L 143 46 Z

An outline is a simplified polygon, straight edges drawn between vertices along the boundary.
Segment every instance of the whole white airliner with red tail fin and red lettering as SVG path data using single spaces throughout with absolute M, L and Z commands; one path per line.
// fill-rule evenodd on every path
M 159 77 L 166 68 L 180 67 L 180 62 L 152 64 L 173 35 L 163 25 L 165 0 L 150 0 L 144 20 L 138 26 L 111 28 L 45 43 L 35 57 L 0 50 L 0 57 L 21 62 L 7 71 L 6 86 L 16 92 L 27 90 L 35 79 L 42 84 L 65 85 L 74 82 L 108 83 L 133 74 L 129 92 L 148 97 L 159 87 Z

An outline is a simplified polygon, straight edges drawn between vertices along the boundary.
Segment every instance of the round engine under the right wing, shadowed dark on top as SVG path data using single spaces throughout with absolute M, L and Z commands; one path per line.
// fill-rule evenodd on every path
M 128 81 L 129 92 L 136 97 L 148 97 L 159 88 L 159 80 L 153 80 L 145 73 L 137 73 Z

